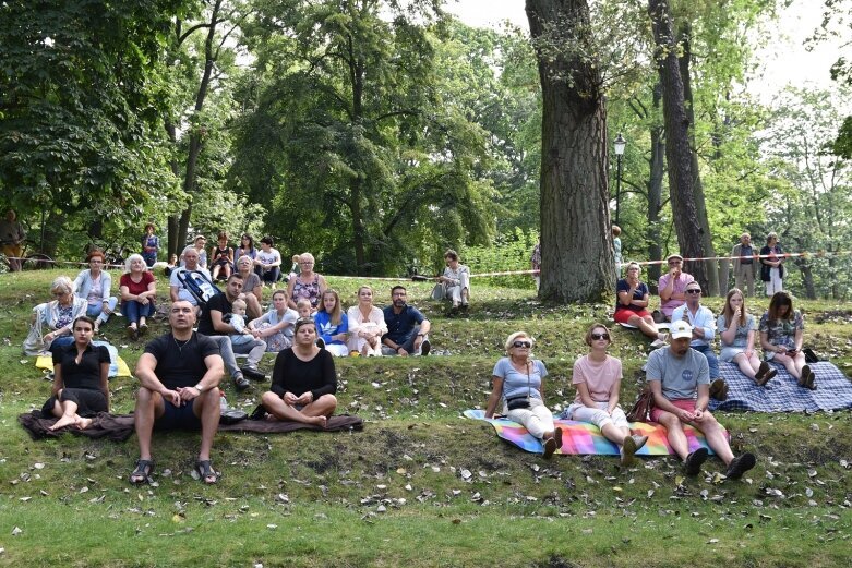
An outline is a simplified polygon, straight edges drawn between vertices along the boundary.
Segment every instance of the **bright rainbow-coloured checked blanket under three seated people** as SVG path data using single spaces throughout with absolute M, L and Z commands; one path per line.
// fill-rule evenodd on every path
M 527 428 L 517 422 L 506 419 L 487 419 L 485 412 L 482 410 L 466 410 L 464 414 L 465 418 L 490 422 L 499 437 L 523 450 L 533 454 L 544 452 L 541 440 L 532 437 L 527 432 Z M 600 430 L 595 424 L 559 419 L 553 422 L 562 428 L 562 448 L 557 449 L 556 454 L 619 455 L 619 446 L 603 437 L 603 434 L 600 433 Z M 674 454 L 665 438 L 665 428 L 659 424 L 634 422 L 631 424 L 631 427 L 634 434 L 648 436 L 648 443 L 636 452 L 637 456 L 668 456 Z M 712 454 L 704 434 L 692 426 L 684 426 L 684 432 L 686 433 L 686 439 L 689 442 L 689 451 L 705 447 Z

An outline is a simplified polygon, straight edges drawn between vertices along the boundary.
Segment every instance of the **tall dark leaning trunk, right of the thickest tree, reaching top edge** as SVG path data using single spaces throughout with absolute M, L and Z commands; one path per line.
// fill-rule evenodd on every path
M 677 61 L 677 45 L 667 0 L 648 0 L 657 60 L 662 83 L 665 123 L 665 159 L 669 165 L 669 192 L 672 216 L 681 254 L 686 258 L 705 256 L 704 235 L 698 220 L 693 190 L 693 160 L 689 145 L 689 119 L 684 104 L 683 80 Z M 692 274 L 706 291 L 708 278 L 701 262 L 686 261 L 684 270 Z

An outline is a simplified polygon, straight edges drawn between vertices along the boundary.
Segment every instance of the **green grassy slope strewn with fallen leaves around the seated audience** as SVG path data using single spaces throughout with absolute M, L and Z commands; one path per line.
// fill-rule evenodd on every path
M 363 432 L 220 434 L 214 460 L 224 476 L 214 487 L 190 475 L 196 435 L 158 434 L 157 483 L 132 487 L 135 437 L 33 442 L 17 425 L 17 414 L 49 392 L 20 345 L 29 310 L 58 274 L 0 276 L 0 566 L 849 565 L 849 412 L 719 413 L 735 449 L 759 457 L 745 480 L 723 483 L 716 459 L 687 480 L 672 459 L 626 470 L 604 457 L 545 461 L 459 418 L 484 404 L 503 341 L 517 329 L 538 339 L 537 356 L 551 372 L 549 404 L 573 399 L 573 361 L 607 306 L 547 306 L 529 290 L 478 286 L 464 317 L 413 302 L 433 322 L 433 349 L 448 356 L 337 360 L 341 411 L 364 418 Z M 360 283 L 331 282 L 347 303 Z M 374 283 L 384 303 L 391 283 Z M 165 299 L 166 280 L 158 286 Z M 408 288 L 409 298 L 428 298 L 428 283 Z M 718 311 L 721 299 L 707 303 Z M 751 305 L 765 307 L 764 299 Z M 849 373 L 852 305 L 799 307 L 806 343 Z M 120 351 L 132 368 L 142 345 L 123 339 L 120 319 L 104 329 L 127 346 Z M 155 322 L 153 331 L 163 329 Z M 629 404 L 647 343 L 622 329 L 614 337 Z M 263 367 L 272 363 L 268 354 Z M 225 388 L 232 404 L 257 402 L 259 388 Z M 132 410 L 134 379 L 117 378 L 111 389 L 113 410 Z

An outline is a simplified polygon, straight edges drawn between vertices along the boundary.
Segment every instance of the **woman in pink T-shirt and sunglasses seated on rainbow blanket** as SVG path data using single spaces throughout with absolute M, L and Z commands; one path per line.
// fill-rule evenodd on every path
M 572 383 L 577 386 L 577 398 L 562 416 L 598 426 L 607 439 L 621 446 L 622 466 L 629 466 L 648 436 L 632 435 L 627 416 L 619 406 L 622 370 L 621 361 L 607 354 L 612 345 L 610 330 L 603 324 L 592 324 L 586 333 L 586 345 L 589 353 L 574 363 Z

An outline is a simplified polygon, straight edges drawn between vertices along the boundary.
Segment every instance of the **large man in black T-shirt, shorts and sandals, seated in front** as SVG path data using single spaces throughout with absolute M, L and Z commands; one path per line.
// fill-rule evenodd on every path
M 130 474 L 133 484 L 147 483 L 154 470 L 151 435 L 158 430 L 201 430 L 195 469 L 204 483 L 216 483 L 211 466 L 213 436 L 219 426 L 219 389 L 225 366 L 219 346 L 192 330 L 195 307 L 178 300 L 169 310 L 171 333 L 153 339 L 136 364 L 141 383 L 134 420 L 140 459 Z

